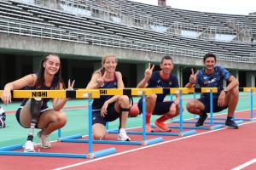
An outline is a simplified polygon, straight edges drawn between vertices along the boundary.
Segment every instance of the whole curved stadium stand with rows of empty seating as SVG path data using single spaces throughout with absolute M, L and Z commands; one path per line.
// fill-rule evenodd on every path
M 223 60 L 256 62 L 253 15 L 204 13 L 126 0 L 60 0 L 46 6 L 41 1 L 0 0 L 0 32 L 191 57 L 210 51 Z

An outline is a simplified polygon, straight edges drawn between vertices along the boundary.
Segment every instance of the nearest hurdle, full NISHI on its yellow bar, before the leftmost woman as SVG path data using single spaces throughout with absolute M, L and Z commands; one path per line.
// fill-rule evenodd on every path
M 3 91 L 0 91 L 0 97 Z M 13 98 L 80 98 L 88 99 L 89 113 L 92 112 L 92 99 L 99 98 L 98 90 L 14 90 L 12 91 Z M 15 151 L 22 149 L 23 144 L 15 144 L 7 147 L 0 148 L 0 155 L 5 156 L 48 156 L 48 157 L 68 157 L 68 158 L 96 158 L 100 156 L 107 156 L 116 152 L 115 148 L 108 148 L 105 150 L 92 150 L 92 137 L 91 137 L 91 119 L 89 120 L 89 144 L 88 152 L 85 154 L 74 153 L 51 153 L 51 152 L 23 152 Z M 58 132 L 58 135 L 59 132 Z

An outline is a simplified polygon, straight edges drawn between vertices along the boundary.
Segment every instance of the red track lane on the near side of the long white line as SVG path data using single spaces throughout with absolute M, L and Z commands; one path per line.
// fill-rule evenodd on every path
M 232 169 L 256 157 L 256 122 L 247 123 L 239 130 L 199 133 L 68 169 Z M 256 169 L 256 163 L 246 169 Z

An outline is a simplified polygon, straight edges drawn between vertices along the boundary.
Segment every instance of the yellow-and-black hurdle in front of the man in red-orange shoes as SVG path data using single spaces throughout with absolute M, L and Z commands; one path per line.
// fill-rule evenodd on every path
M 147 89 L 147 88 L 146 88 Z M 178 133 L 171 133 L 171 132 L 154 132 L 154 133 L 146 133 L 146 101 L 145 101 L 145 95 L 143 95 L 143 132 L 138 131 L 128 131 L 126 133 L 128 134 L 148 134 L 148 135 L 159 135 L 159 136 L 188 136 L 195 134 L 195 130 L 189 130 L 184 132 L 183 131 L 183 94 L 188 94 L 189 89 L 188 88 L 152 88 L 152 94 L 179 94 L 179 104 L 181 105 L 179 107 L 179 117 L 181 122 L 179 123 L 179 132 Z M 152 127 L 154 127 L 154 124 L 151 124 Z M 118 133 L 117 130 L 110 130 L 108 133 Z

